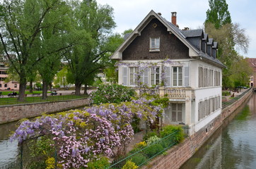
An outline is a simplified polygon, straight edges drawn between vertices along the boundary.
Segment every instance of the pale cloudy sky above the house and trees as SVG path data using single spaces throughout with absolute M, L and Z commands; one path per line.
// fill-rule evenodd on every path
M 177 12 L 177 24 L 180 29 L 202 28 L 209 9 L 207 0 L 97 0 L 98 4 L 108 4 L 114 8 L 117 27 L 114 32 L 134 30 L 151 11 L 162 13 L 163 18 L 170 21 L 171 12 Z M 248 58 L 256 58 L 256 1 L 226 0 L 228 11 L 233 23 L 239 23 L 245 29 L 245 35 L 250 38 L 248 54 L 240 52 Z

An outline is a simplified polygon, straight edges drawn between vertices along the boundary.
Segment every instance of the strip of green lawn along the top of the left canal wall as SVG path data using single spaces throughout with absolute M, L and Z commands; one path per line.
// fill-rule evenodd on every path
M 38 91 L 40 92 L 40 91 Z M 63 96 L 47 96 L 46 100 L 43 100 L 41 96 L 32 96 L 25 97 L 25 101 L 18 101 L 17 97 L 8 97 L 8 98 L 0 98 L 0 105 L 8 105 L 8 104 L 28 104 L 28 103 L 39 103 L 46 101 L 62 101 L 62 100 L 71 100 L 71 99 L 81 99 L 86 98 L 85 95 L 63 95 Z

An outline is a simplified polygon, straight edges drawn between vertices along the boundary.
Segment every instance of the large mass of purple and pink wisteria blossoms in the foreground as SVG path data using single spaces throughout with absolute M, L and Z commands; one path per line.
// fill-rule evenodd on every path
M 45 151 L 51 147 L 50 150 L 56 150 L 57 163 L 62 168 L 88 167 L 88 163 L 97 161 L 98 156 L 112 158 L 125 151 L 134 136 L 131 125 L 134 117 L 153 123 L 161 107 L 151 105 L 152 101 L 141 98 L 122 104 L 92 106 L 84 111 L 44 115 L 33 122 L 25 120 L 11 139 L 18 139 L 23 144 L 47 136 L 48 141 L 42 146 L 45 161 L 53 156 L 54 152 Z M 37 139 L 37 143 L 41 140 Z

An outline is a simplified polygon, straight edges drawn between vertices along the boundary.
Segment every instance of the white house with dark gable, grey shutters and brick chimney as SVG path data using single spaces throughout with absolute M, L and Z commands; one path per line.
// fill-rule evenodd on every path
M 150 11 L 111 58 L 118 61 L 119 84 L 160 85 L 155 92 L 170 100 L 163 123 L 185 124 L 192 135 L 210 130 L 221 114 L 221 69 L 226 66 L 216 58 L 214 39 L 204 30 L 180 30 L 176 15 L 169 22 Z

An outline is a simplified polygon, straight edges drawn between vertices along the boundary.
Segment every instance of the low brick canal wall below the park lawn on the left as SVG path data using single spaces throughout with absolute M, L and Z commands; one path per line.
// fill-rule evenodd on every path
M 88 104 L 88 99 L 76 99 L 71 101 L 0 106 L 0 124 L 20 120 L 21 118 L 33 118 L 42 115 L 42 113 L 65 111 L 67 109 L 86 106 Z

